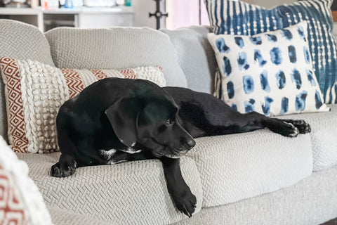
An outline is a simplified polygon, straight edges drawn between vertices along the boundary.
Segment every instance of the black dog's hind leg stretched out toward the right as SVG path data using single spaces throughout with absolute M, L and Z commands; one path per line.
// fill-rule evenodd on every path
M 297 136 L 310 132 L 303 120 L 281 120 L 260 113 L 238 113 L 210 94 L 189 89 L 166 87 L 180 106 L 180 124 L 193 138 L 222 134 L 237 134 L 268 128 L 283 136 Z

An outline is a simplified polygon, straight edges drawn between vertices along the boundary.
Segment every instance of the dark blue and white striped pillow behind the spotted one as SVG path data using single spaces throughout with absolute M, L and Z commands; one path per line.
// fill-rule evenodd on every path
M 254 35 L 307 21 L 313 71 L 325 103 L 337 103 L 337 48 L 330 9 L 333 0 L 296 1 L 270 10 L 243 1 L 204 1 L 216 34 Z

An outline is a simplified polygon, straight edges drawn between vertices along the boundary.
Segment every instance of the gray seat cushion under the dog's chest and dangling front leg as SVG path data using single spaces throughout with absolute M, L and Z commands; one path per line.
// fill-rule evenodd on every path
M 159 160 L 81 167 L 72 176 L 55 178 L 49 172 L 59 157 L 60 153 L 18 153 L 46 205 L 118 224 L 170 224 L 187 217 L 173 205 Z M 197 197 L 197 213 L 202 203 L 199 172 L 190 158 L 182 158 L 180 167 Z

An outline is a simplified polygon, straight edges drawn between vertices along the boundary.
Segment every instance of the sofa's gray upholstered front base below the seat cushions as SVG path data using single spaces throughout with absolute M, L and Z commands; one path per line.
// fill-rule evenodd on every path
M 337 167 L 315 172 L 280 191 L 203 208 L 175 225 L 317 225 L 337 217 Z

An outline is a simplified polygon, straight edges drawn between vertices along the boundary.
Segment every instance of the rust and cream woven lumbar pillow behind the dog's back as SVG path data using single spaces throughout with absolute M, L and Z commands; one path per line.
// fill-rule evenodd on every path
M 12 150 L 45 153 L 58 150 L 55 119 L 69 98 L 99 79 L 148 79 L 159 86 L 166 81 L 161 68 L 128 70 L 58 69 L 32 60 L 0 58 L 5 84 L 8 141 Z

